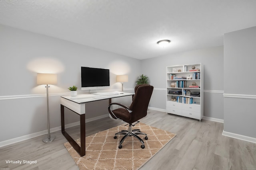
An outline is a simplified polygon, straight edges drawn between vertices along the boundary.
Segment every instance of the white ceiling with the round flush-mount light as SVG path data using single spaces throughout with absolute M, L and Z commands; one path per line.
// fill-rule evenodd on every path
M 0 0 L 0 24 L 148 59 L 223 45 L 256 26 L 256 0 Z

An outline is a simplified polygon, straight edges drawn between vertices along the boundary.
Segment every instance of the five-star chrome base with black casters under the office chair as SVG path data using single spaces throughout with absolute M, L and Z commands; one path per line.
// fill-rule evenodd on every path
M 140 147 L 141 147 L 142 149 L 145 148 L 144 141 L 143 141 L 138 135 L 145 135 L 145 140 L 148 140 L 147 134 L 146 134 L 146 133 L 142 133 L 142 132 L 140 131 L 140 129 L 134 129 L 134 130 L 132 130 L 132 126 L 133 126 L 132 124 L 129 124 L 129 131 L 122 130 L 122 131 L 120 131 L 120 132 L 118 132 L 118 133 L 115 134 L 114 139 L 117 138 L 116 135 L 124 135 L 124 137 L 122 137 L 122 139 L 121 139 L 121 141 L 120 141 L 120 143 L 119 143 L 119 146 L 118 146 L 119 149 L 122 148 L 122 143 L 124 142 L 124 139 L 126 139 L 126 137 L 128 137 L 128 136 L 129 136 L 129 137 L 131 137 L 131 136 L 136 137 L 136 138 L 142 143 L 142 145 L 141 145 Z

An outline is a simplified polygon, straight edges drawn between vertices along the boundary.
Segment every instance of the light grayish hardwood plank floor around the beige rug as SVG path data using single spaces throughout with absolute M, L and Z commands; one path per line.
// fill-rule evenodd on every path
M 223 123 L 168 115 L 149 110 L 140 120 L 172 133 L 176 137 L 140 170 L 256 170 L 256 144 L 222 136 Z M 86 136 L 122 124 L 104 118 L 86 123 Z M 76 138 L 79 127 L 69 129 Z M 0 169 L 10 170 L 77 170 L 65 149 L 67 142 L 60 131 L 52 143 L 36 137 L 0 148 Z M 150 139 L 150 136 L 148 137 Z M 36 160 L 36 164 L 7 164 L 6 160 Z

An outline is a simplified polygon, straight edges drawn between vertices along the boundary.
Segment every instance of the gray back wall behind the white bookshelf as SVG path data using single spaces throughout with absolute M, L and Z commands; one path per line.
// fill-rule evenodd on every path
M 142 73 L 154 86 L 150 107 L 166 109 L 166 66 L 193 63 L 204 65 L 204 116 L 224 119 L 223 46 L 143 60 Z

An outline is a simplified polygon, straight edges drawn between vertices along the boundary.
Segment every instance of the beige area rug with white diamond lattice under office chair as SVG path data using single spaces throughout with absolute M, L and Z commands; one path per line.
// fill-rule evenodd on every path
M 70 143 L 64 143 L 64 146 L 80 170 L 136 170 L 176 136 L 174 133 L 138 123 L 132 129 L 140 129 L 148 135 L 148 140 L 144 139 L 144 135 L 139 135 L 143 137 L 145 149 L 141 149 L 142 144 L 135 137 L 127 137 L 122 143 L 122 149 L 118 149 L 124 135 L 118 135 L 114 139 L 114 134 L 128 130 L 129 126 L 124 125 L 86 137 L 86 154 L 83 157 L 80 157 Z M 80 139 L 77 142 L 80 145 Z

